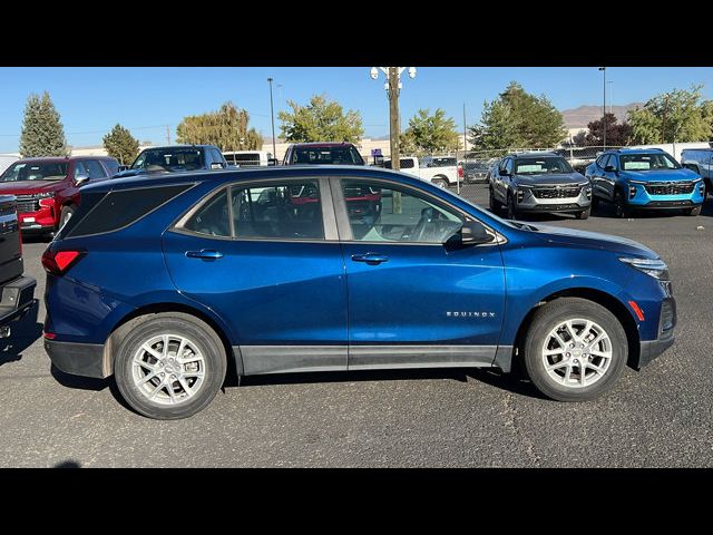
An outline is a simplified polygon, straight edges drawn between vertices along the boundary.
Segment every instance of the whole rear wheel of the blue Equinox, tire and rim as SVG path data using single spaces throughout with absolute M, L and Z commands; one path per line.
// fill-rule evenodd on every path
M 115 379 L 137 412 L 173 420 L 211 403 L 225 379 L 223 342 L 203 321 L 167 312 L 134 320 L 116 340 Z

